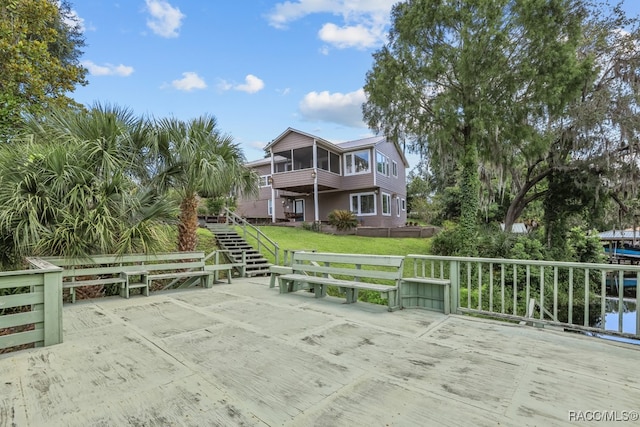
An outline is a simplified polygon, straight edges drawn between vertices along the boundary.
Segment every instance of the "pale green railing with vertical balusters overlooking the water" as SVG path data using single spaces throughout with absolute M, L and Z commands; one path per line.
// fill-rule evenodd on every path
M 640 338 L 637 312 L 630 330 L 625 330 L 623 324 L 628 308 L 635 306 L 637 310 L 640 306 L 640 294 L 625 293 L 624 286 L 625 282 L 640 281 L 640 266 L 432 255 L 410 257 L 416 271 L 451 281 L 453 313 Z M 615 327 L 606 324 L 607 315 L 617 315 Z

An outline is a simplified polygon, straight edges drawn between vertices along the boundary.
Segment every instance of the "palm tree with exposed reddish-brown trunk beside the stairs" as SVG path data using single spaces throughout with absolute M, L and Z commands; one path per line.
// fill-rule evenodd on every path
M 197 243 L 199 198 L 255 194 L 258 177 L 244 165 L 240 146 L 220 132 L 213 116 L 189 122 L 161 119 L 156 125 L 155 149 L 159 168 L 164 168 L 159 176 L 180 201 L 178 250 L 192 251 Z

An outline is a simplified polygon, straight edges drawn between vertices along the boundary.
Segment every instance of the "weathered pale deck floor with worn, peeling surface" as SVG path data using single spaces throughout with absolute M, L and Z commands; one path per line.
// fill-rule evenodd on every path
M 0 426 L 552 426 L 640 410 L 640 346 L 267 284 L 66 305 L 63 344 L 0 356 Z

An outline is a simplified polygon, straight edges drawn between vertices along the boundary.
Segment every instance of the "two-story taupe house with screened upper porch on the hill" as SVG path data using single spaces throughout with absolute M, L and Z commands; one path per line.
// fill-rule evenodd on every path
M 260 175 L 257 198 L 238 202 L 248 219 L 327 221 L 350 210 L 364 226 L 397 227 L 407 220 L 406 157 L 384 137 L 333 143 L 292 128 L 247 166 Z

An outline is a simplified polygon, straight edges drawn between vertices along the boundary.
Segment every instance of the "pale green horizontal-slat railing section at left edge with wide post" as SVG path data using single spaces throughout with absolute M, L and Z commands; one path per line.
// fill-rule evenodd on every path
M 0 272 L 0 349 L 62 342 L 62 269 L 43 261 Z

